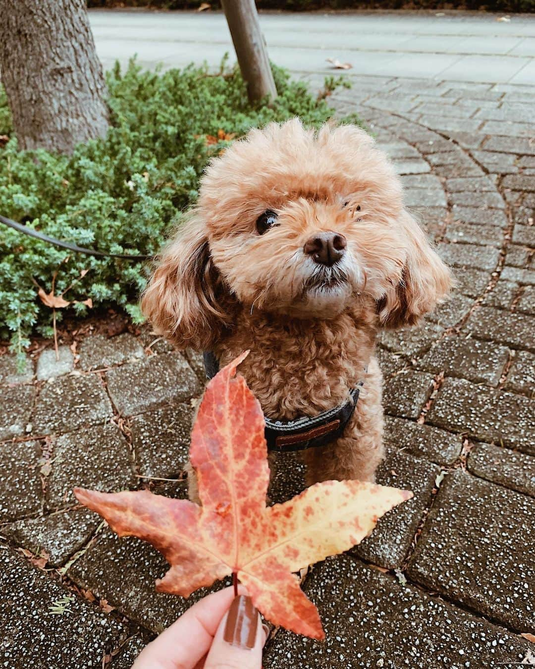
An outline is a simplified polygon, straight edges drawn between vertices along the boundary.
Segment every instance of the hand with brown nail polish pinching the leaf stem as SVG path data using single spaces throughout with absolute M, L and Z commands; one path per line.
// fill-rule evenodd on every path
M 132 669 L 260 669 L 267 626 L 243 587 L 215 592 L 148 644 Z

